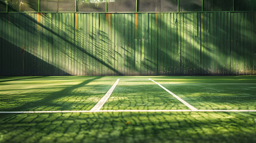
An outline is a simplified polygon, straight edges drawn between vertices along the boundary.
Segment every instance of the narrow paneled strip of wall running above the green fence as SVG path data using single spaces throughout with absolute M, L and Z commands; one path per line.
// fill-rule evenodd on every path
M 0 0 L 0 11 L 6 4 L 9 12 L 256 11 L 254 0 Z

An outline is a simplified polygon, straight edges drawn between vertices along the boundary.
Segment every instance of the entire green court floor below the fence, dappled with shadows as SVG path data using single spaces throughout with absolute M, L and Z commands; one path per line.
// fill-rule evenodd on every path
M 256 142 L 256 76 L 0 77 L 0 142 Z

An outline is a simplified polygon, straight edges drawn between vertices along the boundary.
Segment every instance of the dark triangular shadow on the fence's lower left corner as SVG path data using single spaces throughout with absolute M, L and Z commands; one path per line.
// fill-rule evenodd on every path
M 3 38 L 0 38 L 0 41 L 4 43 L 5 46 L 8 46 L 8 50 L 16 52 L 15 55 L 2 55 L 2 58 L 5 60 L 1 61 L 1 75 L 3 76 L 26 76 L 26 75 L 53 75 L 50 72 L 46 71 L 47 68 L 53 67 L 51 63 L 47 63 L 41 58 L 36 57 L 35 55 L 30 54 L 26 51 L 21 51 L 21 47 L 14 45 L 11 42 L 6 41 Z M 2 54 L 7 54 L 8 51 L 3 52 Z M 8 58 L 7 58 L 8 57 Z M 8 63 L 7 60 L 10 60 L 11 63 Z M 25 64 L 25 60 L 27 61 Z M 61 69 L 59 70 L 58 75 L 70 75 Z M 46 71 L 46 72 L 45 72 Z M 52 72 L 51 72 L 52 73 Z M 33 78 L 33 77 L 32 77 Z M 5 82 L 5 81 L 4 81 Z

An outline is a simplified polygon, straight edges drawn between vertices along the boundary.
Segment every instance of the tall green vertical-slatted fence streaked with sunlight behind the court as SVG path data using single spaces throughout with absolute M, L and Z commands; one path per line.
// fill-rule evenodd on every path
M 1 13 L 0 75 L 256 73 L 256 13 Z

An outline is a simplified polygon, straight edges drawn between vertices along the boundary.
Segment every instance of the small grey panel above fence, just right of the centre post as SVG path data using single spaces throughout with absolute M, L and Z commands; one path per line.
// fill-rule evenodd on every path
M 138 0 L 138 12 L 160 12 L 160 0 Z

